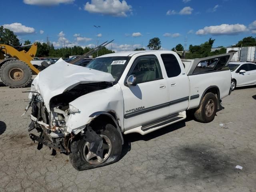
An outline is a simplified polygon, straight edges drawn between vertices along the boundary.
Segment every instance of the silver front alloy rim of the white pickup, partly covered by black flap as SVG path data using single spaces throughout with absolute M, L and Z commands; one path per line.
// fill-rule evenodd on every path
M 90 151 L 90 143 L 86 142 L 84 144 L 84 148 L 83 148 L 83 156 L 84 159 L 92 164 L 92 165 L 98 165 L 103 163 L 104 161 L 106 161 L 108 159 L 108 157 L 110 156 L 111 150 L 112 150 L 112 144 L 110 141 L 110 138 L 108 138 L 108 136 L 104 135 L 104 134 L 100 134 L 99 136 L 102 137 L 103 139 L 103 158 L 100 158 L 100 156 L 97 156 L 96 154 L 94 154 L 93 152 Z

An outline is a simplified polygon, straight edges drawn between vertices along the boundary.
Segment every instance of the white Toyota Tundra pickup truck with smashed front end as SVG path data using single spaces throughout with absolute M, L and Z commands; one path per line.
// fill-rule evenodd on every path
M 184 120 L 186 110 L 212 121 L 231 92 L 233 54 L 181 60 L 172 51 L 119 52 L 86 67 L 60 59 L 32 82 L 28 131 L 40 135 L 30 138 L 38 149 L 69 154 L 77 170 L 116 162 L 122 134 L 148 134 Z

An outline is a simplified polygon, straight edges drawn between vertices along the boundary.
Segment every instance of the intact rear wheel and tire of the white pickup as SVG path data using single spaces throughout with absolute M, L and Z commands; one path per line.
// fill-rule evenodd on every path
M 215 94 L 206 93 L 199 108 L 194 112 L 198 122 L 208 123 L 214 120 L 218 108 L 218 100 Z

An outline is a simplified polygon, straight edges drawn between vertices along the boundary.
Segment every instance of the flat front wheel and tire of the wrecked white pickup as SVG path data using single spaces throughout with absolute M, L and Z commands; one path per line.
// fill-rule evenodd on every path
M 103 159 L 90 152 L 90 143 L 78 138 L 71 143 L 69 160 L 72 166 L 78 170 L 87 170 L 105 166 L 117 162 L 122 152 L 122 140 L 120 134 L 112 124 L 102 124 L 93 130 L 103 138 Z

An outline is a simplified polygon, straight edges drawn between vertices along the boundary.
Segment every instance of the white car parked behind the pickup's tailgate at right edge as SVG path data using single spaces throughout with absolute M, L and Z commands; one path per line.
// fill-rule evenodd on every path
M 250 62 L 230 62 L 231 88 L 256 85 L 256 64 Z

